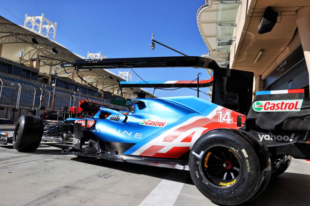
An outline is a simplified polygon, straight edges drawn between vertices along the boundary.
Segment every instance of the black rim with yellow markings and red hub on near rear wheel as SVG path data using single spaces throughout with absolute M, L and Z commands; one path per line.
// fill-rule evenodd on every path
M 215 187 L 233 187 L 241 179 L 241 161 L 232 147 L 213 145 L 206 149 L 200 162 L 202 175 Z

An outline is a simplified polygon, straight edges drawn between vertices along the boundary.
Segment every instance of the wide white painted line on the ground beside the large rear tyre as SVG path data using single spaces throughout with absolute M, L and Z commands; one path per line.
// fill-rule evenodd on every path
M 178 198 L 187 177 L 187 172 L 172 170 L 139 204 L 139 206 L 173 205 Z

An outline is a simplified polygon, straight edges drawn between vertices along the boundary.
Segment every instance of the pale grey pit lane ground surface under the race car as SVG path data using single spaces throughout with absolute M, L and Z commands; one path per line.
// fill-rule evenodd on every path
M 13 133 L 14 126 L 0 125 Z M 44 143 L 32 153 L 0 145 L 0 205 L 216 205 L 187 171 L 82 158 Z M 293 159 L 247 205 L 310 205 L 310 162 Z

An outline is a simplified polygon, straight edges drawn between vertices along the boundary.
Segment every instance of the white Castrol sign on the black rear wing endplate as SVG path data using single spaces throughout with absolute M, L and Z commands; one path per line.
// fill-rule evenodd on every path
M 257 112 L 266 111 L 300 111 L 303 99 L 256 101 L 252 108 Z

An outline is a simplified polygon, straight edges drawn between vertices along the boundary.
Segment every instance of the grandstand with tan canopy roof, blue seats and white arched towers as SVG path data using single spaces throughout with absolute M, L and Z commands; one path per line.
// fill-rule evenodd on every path
M 81 77 L 94 86 L 86 85 L 75 74 L 74 68 L 56 66 L 57 60 L 74 62 L 85 57 L 72 53 L 55 41 L 57 23 L 41 16 L 25 16 L 24 25 L 17 25 L 0 16 L 0 118 L 17 120 L 30 114 L 41 116 L 44 110 L 51 110 L 53 90 L 55 99 L 53 110 L 69 110 L 81 100 L 101 103 L 109 107 L 126 109 L 112 105 L 111 99 L 120 99 L 118 81 L 122 77 L 107 70 L 83 71 Z M 101 52 L 87 53 L 87 58 L 106 58 Z M 55 66 L 50 66 L 55 65 Z M 69 74 L 67 74 L 69 73 Z M 55 86 L 53 86 L 55 85 Z M 123 95 L 135 98 L 134 91 L 140 88 L 127 88 Z

